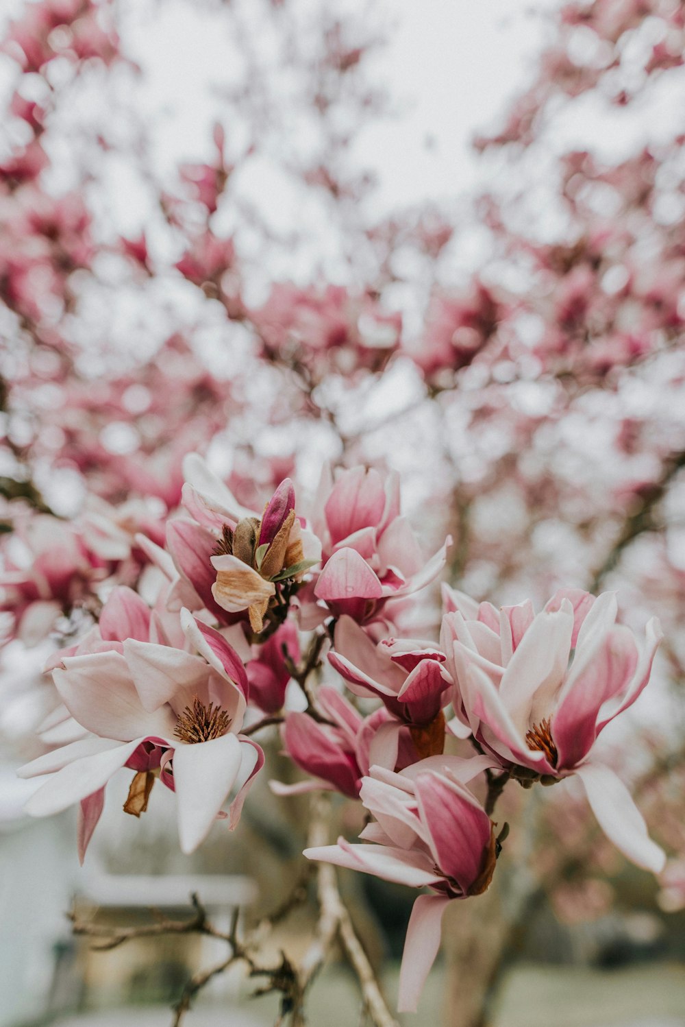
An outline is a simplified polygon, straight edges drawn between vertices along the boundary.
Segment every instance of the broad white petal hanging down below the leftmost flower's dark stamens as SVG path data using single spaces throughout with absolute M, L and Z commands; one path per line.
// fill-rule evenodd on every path
M 194 852 L 209 834 L 240 772 L 242 757 L 235 734 L 174 749 L 173 785 L 183 852 Z

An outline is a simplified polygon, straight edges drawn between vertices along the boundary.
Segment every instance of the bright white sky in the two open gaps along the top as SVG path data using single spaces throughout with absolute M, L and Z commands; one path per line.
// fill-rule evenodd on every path
M 527 81 L 545 31 L 533 8 L 555 5 L 556 0 L 384 5 L 394 27 L 389 45 L 372 59 L 374 77 L 388 85 L 401 114 L 364 130 L 358 148 L 360 165 L 379 175 L 384 208 L 451 198 L 477 184 L 470 140 L 493 123 Z M 365 5 L 350 0 L 346 7 L 361 11 Z M 211 96 L 212 84 L 231 77 L 226 37 L 216 32 L 220 12 L 193 9 L 188 0 L 161 5 L 128 0 L 128 9 L 126 40 L 145 70 L 143 103 L 154 114 L 159 157 L 165 164 L 198 159 L 208 153 L 212 121 L 226 115 Z M 230 123 L 227 127 L 230 132 Z

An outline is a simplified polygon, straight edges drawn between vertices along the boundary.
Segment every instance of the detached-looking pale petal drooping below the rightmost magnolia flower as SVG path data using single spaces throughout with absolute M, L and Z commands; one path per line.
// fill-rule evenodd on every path
M 660 873 L 666 853 L 649 837 L 642 813 L 613 770 L 598 763 L 585 763 L 575 773 L 607 838 L 638 867 Z

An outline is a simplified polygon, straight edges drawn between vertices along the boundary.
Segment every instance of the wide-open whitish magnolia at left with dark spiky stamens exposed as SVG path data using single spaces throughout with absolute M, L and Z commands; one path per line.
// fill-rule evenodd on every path
M 139 815 L 154 777 L 176 797 L 184 852 L 204 840 L 234 786 L 230 827 L 264 764 L 260 748 L 240 737 L 248 683 L 223 635 L 182 612 L 195 652 L 128 638 L 105 652 L 66 657 L 54 683 L 89 736 L 39 757 L 24 776 L 49 773 L 27 804 L 32 815 L 81 803 L 79 853 L 85 854 L 102 812 L 104 788 L 121 767 L 135 770 L 124 809 Z

